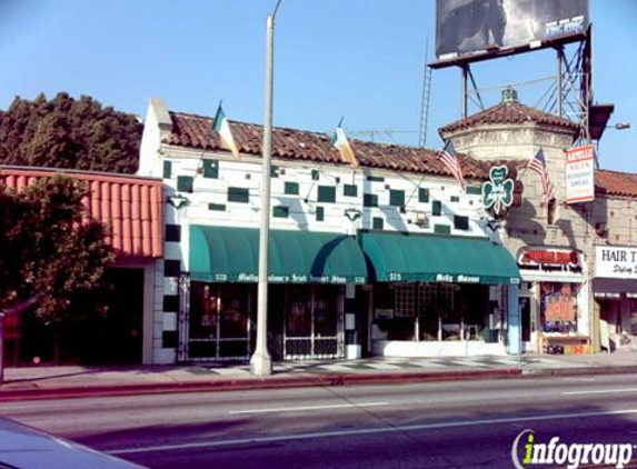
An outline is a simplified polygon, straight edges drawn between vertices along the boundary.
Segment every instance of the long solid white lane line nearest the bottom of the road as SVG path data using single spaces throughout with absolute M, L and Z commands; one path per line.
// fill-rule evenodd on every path
M 310 432 L 310 433 L 298 433 L 298 435 L 278 435 L 272 437 L 237 438 L 233 440 L 197 441 L 197 442 L 186 442 L 186 443 L 175 443 L 175 445 L 149 446 L 141 448 L 140 447 L 120 448 L 110 451 L 107 450 L 104 452 L 108 452 L 109 455 L 133 455 L 140 452 L 171 451 L 171 450 L 196 449 L 196 448 L 219 448 L 232 445 L 255 445 L 255 443 L 276 442 L 276 441 L 315 440 L 320 438 L 394 433 L 397 431 L 435 430 L 444 428 L 520 423 L 520 422 L 544 421 L 544 420 L 567 420 L 567 419 L 580 419 L 584 417 L 625 416 L 631 413 L 637 413 L 637 409 L 607 410 L 599 412 L 580 412 L 580 413 L 554 413 L 548 416 L 510 417 L 506 419 L 464 420 L 455 422 L 362 428 L 362 429 L 322 431 L 322 432 Z

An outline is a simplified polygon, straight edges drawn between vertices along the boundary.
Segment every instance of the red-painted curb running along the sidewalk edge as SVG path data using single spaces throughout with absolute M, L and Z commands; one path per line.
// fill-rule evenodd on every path
M 3 389 L 0 390 L 0 402 L 17 400 L 70 399 L 91 397 L 116 397 L 177 392 L 211 392 L 257 389 L 285 389 L 308 387 L 336 387 L 355 385 L 388 385 L 394 382 L 411 383 L 427 381 L 454 381 L 469 379 L 519 378 L 519 368 L 497 370 L 455 370 L 422 372 L 384 372 L 384 373 L 322 373 L 295 377 L 235 378 L 210 381 L 181 381 L 169 383 L 139 385 L 97 385 L 68 386 L 51 388 Z

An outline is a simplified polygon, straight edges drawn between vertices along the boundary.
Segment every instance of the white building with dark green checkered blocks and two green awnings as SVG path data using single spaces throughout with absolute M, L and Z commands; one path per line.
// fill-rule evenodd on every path
M 152 99 L 140 172 L 161 177 L 161 361 L 248 359 L 253 348 L 262 128 Z M 506 353 L 519 272 L 480 207 L 488 166 L 461 158 L 466 191 L 431 150 L 275 129 L 269 348 L 276 359 Z M 158 302 L 159 303 L 159 302 Z

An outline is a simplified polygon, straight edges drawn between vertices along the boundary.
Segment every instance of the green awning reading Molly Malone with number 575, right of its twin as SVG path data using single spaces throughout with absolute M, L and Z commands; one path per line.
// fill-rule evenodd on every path
M 362 232 L 376 281 L 517 285 L 512 256 L 486 238 Z

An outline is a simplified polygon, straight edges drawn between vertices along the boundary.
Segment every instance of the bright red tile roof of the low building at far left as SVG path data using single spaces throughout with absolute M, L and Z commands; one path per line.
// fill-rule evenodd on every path
M 0 183 L 18 190 L 40 178 L 63 174 L 86 181 L 83 203 L 89 216 L 111 229 L 109 242 L 118 256 L 163 256 L 162 181 L 103 172 L 0 167 Z

